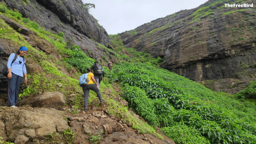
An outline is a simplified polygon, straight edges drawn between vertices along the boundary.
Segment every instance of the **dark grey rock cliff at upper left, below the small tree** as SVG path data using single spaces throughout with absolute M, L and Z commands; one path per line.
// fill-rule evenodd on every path
M 53 32 L 63 32 L 67 39 L 74 39 L 78 46 L 84 36 L 101 44 L 107 44 L 110 38 L 106 30 L 85 9 L 81 0 L 1 0 L 11 9 L 16 9 L 23 17 L 34 20 L 41 27 Z M 82 35 L 84 36 L 82 36 Z M 88 41 L 88 40 L 87 40 Z

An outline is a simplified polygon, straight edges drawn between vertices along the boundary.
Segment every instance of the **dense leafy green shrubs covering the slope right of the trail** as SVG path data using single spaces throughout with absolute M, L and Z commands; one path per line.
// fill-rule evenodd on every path
M 250 102 L 143 63 L 122 64 L 114 72 L 124 84 L 123 98 L 130 108 L 176 143 L 256 141 L 256 109 Z

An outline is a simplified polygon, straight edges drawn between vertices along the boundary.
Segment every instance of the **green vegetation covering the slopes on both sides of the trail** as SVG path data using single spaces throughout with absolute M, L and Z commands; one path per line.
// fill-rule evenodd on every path
M 83 109 L 83 92 L 78 87 L 78 78 L 86 68 L 90 68 L 94 60 L 85 55 L 78 46 L 64 42 L 63 33 L 54 35 L 45 31 L 34 21 L 22 18 L 19 13 L 8 10 L 4 5 L 0 6 L 0 13 L 51 42 L 62 56 L 69 56 L 56 61 L 50 55 L 38 52 L 0 19 L 0 38 L 28 47 L 28 60 L 38 63 L 42 68 L 40 73 L 28 74 L 29 86 L 20 92 L 20 99 L 38 92 L 58 91 L 67 97 L 67 105 Z M 120 63 L 115 64 L 112 71 L 104 68 L 106 81 L 102 83 L 101 91 L 106 87 L 111 88 L 112 83 L 120 83 L 123 99 L 129 102 L 129 108 L 119 108 L 115 102 L 108 100 L 109 115 L 114 114 L 125 119 L 124 122 L 132 122 L 132 127 L 139 129 L 141 133 L 156 134 L 154 128 L 159 127 L 176 144 L 256 143 L 256 107 L 253 103 L 235 100 L 226 93 L 212 92 L 201 84 L 158 68 L 157 65 L 163 62 L 162 59 L 153 59 L 144 52 L 125 48 L 115 39 L 112 44 L 116 44 L 115 56 Z M 118 54 L 122 49 L 126 49 L 132 56 Z M 126 61 L 128 58 L 132 59 L 132 63 Z M 133 65 L 133 61 L 136 65 Z M 77 72 L 69 77 L 61 72 L 59 66 L 66 69 L 76 68 Z M 62 86 L 57 86 L 60 83 Z M 74 93 L 75 98 L 72 97 Z M 97 99 L 95 94 L 90 93 L 90 96 L 89 103 Z M 102 97 L 105 98 L 104 94 Z M 74 100 L 71 101 L 71 98 Z M 127 109 L 135 110 L 147 124 L 133 119 L 130 115 L 123 116 L 122 114 L 128 113 Z

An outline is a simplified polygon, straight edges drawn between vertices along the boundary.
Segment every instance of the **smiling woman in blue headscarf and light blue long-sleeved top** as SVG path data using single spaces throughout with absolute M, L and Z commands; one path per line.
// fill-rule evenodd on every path
M 15 61 L 15 53 L 10 54 L 7 62 L 8 68 L 8 106 L 11 108 L 18 108 L 16 105 L 18 103 L 18 95 L 20 91 L 20 84 L 24 75 L 24 82 L 28 81 L 27 70 L 26 70 L 26 60 L 23 58 L 28 52 L 27 47 L 20 47 L 17 53 L 17 58 Z

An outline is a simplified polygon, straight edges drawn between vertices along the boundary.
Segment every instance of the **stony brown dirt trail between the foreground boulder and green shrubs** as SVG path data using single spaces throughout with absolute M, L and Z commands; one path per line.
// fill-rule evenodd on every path
M 120 84 L 113 84 L 113 90 L 121 95 Z M 105 89 L 103 94 L 111 97 L 111 89 Z M 120 96 L 119 95 L 119 96 Z M 118 100 L 118 98 L 115 98 Z M 119 98 L 120 100 L 120 98 Z M 98 103 L 95 103 L 98 105 Z M 88 111 L 79 112 L 78 114 L 68 115 L 68 125 L 76 132 L 76 144 L 86 144 L 90 142 L 90 133 L 100 134 L 102 131 L 103 139 L 99 143 L 114 144 L 175 144 L 173 140 L 165 136 L 160 130 L 157 133 L 164 137 L 160 140 L 152 134 L 140 134 L 140 131 L 134 130 L 131 125 L 124 124 L 121 120 L 115 120 L 114 117 L 107 114 L 107 102 L 99 107 L 89 105 Z M 133 112 L 132 112 L 133 113 Z M 136 115 L 133 113 L 133 115 Z M 139 116 L 138 116 L 139 118 Z

